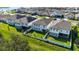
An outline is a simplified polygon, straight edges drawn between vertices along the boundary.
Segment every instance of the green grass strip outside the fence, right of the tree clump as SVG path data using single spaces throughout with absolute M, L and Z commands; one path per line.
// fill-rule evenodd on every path
M 28 40 L 30 49 L 32 51 L 68 51 L 68 49 L 56 45 L 51 45 L 33 38 L 30 38 Z

